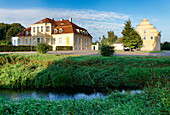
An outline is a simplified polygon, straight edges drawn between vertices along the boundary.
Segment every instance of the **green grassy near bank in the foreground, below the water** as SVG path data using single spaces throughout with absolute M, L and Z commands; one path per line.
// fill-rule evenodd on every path
M 20 99 L 0 97 L 1 114 L 168 114 L 168 88 L 149 88 L 145 93 L 128 95 L 112 92 L 92 100 Z

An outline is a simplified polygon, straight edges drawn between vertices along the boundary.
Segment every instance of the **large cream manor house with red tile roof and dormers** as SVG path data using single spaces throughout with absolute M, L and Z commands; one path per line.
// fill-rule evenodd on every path
M 47 43 L 56 50 L 56 47 L 72 47 L 73 50 L 90 50 L 92 36 L 82 27 L 69 20 L 45 18 L 24 29 L 12 37 L 12 45 L 36 45 Z

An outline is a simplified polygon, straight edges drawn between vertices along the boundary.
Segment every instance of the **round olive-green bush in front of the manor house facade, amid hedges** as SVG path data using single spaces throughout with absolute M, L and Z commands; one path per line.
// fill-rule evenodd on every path
M 41 54 L 50 51 L 50 46 L 46 43 L 38 43 L 36 48 L 37 52 Z

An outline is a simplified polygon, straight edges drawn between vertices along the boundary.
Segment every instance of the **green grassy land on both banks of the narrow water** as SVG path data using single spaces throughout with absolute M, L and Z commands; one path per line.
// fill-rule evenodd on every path
M 0 55 L 1 88 L 139 88 L 141 94 L 112 92 L 92 100 L 9 100 L 2 114 L 168 114 L 170 57 Z

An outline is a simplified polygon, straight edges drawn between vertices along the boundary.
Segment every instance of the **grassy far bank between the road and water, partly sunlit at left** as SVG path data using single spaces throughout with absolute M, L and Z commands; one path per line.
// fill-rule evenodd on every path
M 150 80 L 169 80 L 169 58 L 0 55 L 0 87 L 55 88 L 93 83 L 94 87 L 141 88 Z

